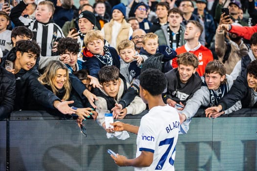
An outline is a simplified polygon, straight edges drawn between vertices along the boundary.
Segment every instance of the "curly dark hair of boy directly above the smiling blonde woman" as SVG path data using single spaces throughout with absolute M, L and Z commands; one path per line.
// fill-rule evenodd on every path
M 76 39 L 72 38 L 62 38 L 59 40 L 57 45 L 58 53 L 65 54 L 65 51 L 78 53 L 79 52 L 79 43 L 77 43 Z

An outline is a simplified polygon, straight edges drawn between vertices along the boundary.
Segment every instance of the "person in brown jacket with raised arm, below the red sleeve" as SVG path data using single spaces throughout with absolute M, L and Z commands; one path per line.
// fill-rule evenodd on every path
M 232 25 L 240 24 L 233 23 Z M 242 37 L 234 33 L 229 33 L 230 41 L 225 42 L 224 32 L 224 29 L 219 25 L 215 34 L 215 52 L 219 61 L 225 65 L 226 74 L 231 74 L 235 64 L 248 54 L 249 48 L 242 41 Z

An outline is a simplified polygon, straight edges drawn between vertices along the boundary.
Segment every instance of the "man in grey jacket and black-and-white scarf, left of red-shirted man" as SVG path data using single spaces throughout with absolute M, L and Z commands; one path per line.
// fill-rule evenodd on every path
M 159 45 L 170 46 L 173 50 L 186 43 L 184 40 L 185 27 L 181 24 L 183 21 L 183 12 L 178 8 L 172 8 L 168 11 L 168 22 L 157 30 Z

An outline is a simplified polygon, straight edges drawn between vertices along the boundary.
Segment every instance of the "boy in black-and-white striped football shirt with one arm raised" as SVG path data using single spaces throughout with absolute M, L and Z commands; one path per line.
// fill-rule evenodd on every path
M 54 56 L 57 52 L 56 40 L 65 37 L 62 29 L 51 20 L 55 8 L 51 1 L 43 0 L 37 5 L 34 20 L 21 17 L 26 6 L 34 2 L 34 0 L 21 1 L 12 9 L 11 21 L 16 26 L 27 26 L 33 32 L 33 39 L 41 46 L 41 56 Z

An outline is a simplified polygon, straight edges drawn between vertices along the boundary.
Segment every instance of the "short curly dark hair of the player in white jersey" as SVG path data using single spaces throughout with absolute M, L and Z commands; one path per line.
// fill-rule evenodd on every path
M 140 85 L 151 95 L 157 96 L 164 92 L 167 80 L 159 69 L 146 69 L 140 74 Z

